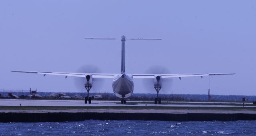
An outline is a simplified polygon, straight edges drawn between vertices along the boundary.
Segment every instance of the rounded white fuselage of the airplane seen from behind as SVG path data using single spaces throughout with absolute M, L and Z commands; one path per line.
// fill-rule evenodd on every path
M 114 94 L 119 98 L 130 97 L 133 93 L 132 75 L 119 74 L 114 76 L 112 83 Z

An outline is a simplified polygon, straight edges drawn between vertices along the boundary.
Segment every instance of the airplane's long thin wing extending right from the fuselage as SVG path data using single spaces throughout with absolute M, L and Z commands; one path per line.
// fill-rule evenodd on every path
M 160 75 L 162 78 L 174 77 L 203 77 L 211 75 L 234 75 L 235 73 L 208 73 L 208 74 L 133 74 L 134 79 L 154 79 L 154 75 Z

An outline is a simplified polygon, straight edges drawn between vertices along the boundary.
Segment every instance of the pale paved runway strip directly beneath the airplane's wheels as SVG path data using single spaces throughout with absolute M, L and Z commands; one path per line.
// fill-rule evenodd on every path
M 146 101 L 151 102 L 151 101 Z M 162 104 L 147 103 L 147 106 L 170 106 L 170 107 L 242 107 L 239 102 L 162 102 Z M 173 104 L 177 103 L 177 104 Z M 178 104 L 183 103 L 183 104 Z M 202 104 L 200 104 L 202 103 Z M 209 105 L 207 105 L 207 103 Z M 142 101 L 128 101 L 121 104 L 120 101 L 92 101 L 91 104 L 84 104 L 81 100 L 24 100 L 24 99 L 0 99 L 0 106 L 146 106 Z M 216 105 L 215 105 L 216 104 Z M 218 105 L 225 104 L 225 105 Z M 231 104 L 231 105 L 228 105 Z M 232 105 L 241 104 L 241 105 Z M 250 103 L 245 103 L 250 104 Z M 246 106 L 255 107 L 255 106 Z

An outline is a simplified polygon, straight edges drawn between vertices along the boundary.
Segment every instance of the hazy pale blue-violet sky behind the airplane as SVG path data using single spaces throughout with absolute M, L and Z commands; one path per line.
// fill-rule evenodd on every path
M 162 38 L 126 41 L 126 73 L 236 73 L 211 77 L 211 94 L 256 95 L 255 0 L 1 0 L 0 89 L 79 92 L 75 77 L 10 70 L 120 73 L 121 41 L 84 37 L 122 35 Z M 160 93 L 207 94 L 208 80 L 175 78 Z M 134 80 L 134 93 L 156 93 L 142 83 Z M 103 91 L 112 92 L 111 79 Z

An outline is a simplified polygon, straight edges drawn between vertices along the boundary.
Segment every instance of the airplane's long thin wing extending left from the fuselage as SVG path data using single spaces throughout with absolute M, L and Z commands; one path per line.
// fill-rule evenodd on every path
M 12 71 L 20 73 L 34 73 L 45 75 L 62 75 L 70 77 L 85 77 L 88 74 L 92 74 L 92 78 L 114 78 L 114 74 L 102 74 L 102 73 L 64 73 L 64 72 L 38 72 L 38 71 Z

